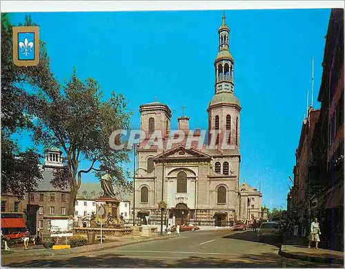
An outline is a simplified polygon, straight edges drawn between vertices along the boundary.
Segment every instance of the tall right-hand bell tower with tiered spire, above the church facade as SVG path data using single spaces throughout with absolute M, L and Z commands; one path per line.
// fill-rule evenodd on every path
M 229 51 L 230 30 L 226 26 L 223 14 L 221 26 L 218 29 L 219 46 L 215 59 L 215 95 L 208 105 L 208 144 L 212 136 L 216 135 L 215 145 L 221 148 L 226 141 L 227 145 L 239 150 L 239 113 L 241 106 L 234 94 L 234 59 Z M 216 134 L 215 134 L 216 132 Z M 218 135 L 217 135 L 218 133 Z

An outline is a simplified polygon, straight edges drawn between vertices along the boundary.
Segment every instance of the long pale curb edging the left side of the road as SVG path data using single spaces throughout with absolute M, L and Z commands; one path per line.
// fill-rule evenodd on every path
M 108 246 L 99 246 L 99 248 L 85 248 L 83 250 L 78 250 L 77 248 L 70 248 L 68 250 L 52 250 L 51 248 L 45 249 L 43 251 L 47 252 L 40 252 L 40 253 L 28 253 L 28 254 L 16 254 L 11 253 L 9 255 L 5 255 L 6 258 L 10 257 L 47 257 L 47 256 L 55 256 L 55 255 L 70 255 L 70 254 L 79 254 L 79 253 L 87 253 L 87 252 L 92 252 L 92 251 L 101 251 L 101 250 L 107 250 L 110 248 L 118 248 L 121 246 L 128 246 L 128 245 L 133 245 L 135 243 L 144 243 L 148 241 L 157 241 L 157 240 L 165 240 L 165 239 L 170 239 L 172 237 L 154 237 L 152 239 L 139 239 L 139 240 L 132 240 L 132 241 L 125 241 L 124 243 L 121 244 L 116 244 L 116 245 L 108 245 Z M 110 243 L 109 243 L 110 244 Z M 95 246 L 95 245 L 93 245 Z M 4 256 L 2 256 L 4 257 Z

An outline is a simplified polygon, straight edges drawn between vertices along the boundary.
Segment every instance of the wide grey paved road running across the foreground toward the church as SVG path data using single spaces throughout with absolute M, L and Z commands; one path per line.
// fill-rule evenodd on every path
M 181 237 L 79 255 L 23 258 L 11 267 L 317 267 L 278 255 L 279 248 L 258 243 L 253 232 L 182 232 Z M 322 266 L 325 267 L 325 266 Z

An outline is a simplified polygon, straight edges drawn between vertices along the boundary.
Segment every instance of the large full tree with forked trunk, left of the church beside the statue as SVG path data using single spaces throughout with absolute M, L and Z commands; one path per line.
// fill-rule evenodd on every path
M 89 78 L 81 81 L 76 70 L 64 86 L 40 88 L 28 96 L 28 112 L 36 121 L 33 139 L 46 148 L 57 147 L 65 152 L 65 168 L 55 172 L 53 185 L 70 187 L 69 214 L 75 212 L 75 198 L 84 173 L 96 172 L 101 177 L 108 172 L 117 183 L 130 188 L 118 163 L 128 161 L 128 150 L 112 150 L 112 132 L 128 129 L 131 113 L 122 94 L 112 92 L 103 99 L 99 83 Z M 80 161 L 90 161 L 88 169 Z

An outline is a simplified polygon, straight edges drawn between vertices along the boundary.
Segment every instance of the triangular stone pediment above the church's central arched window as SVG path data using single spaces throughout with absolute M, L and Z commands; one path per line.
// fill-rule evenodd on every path
M 155 160 L 160 159 L 211 159 L 211 156 L 201 152 L 195 148 L 185 148 L 185 146 L 177 146 L 166 152 L 161 153 L 155 157 Z

